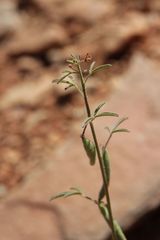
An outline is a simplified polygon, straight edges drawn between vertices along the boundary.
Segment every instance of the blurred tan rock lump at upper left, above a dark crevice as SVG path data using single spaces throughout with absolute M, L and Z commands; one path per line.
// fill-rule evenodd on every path
M 35 29 L 24 23 L 23 28 L 18 29 L 14 39 L 8 45 L 7 53 L 11 56 L 29 56 L 63 46 L 67 41 L 65 29 L 57 24 L 44 30 L 43 26 L 37 26 Z

